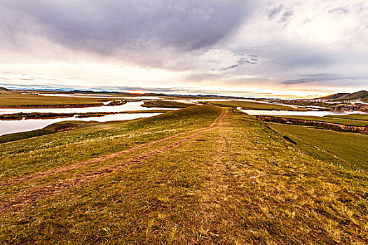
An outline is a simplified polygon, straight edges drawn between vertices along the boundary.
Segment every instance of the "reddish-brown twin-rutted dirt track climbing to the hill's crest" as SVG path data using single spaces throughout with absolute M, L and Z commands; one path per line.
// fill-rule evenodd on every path
M 185 137 L 184 139 L 179 139 L 177 141 L 172 142 L 171 144 L 168 144 L 167 146 L 163 146 L 163 147 L 158 148 L 154 151 L 150 151 L 149 153 L 145 153 L 143 155 L 140 155 L 137 158 L 133 158 L 132 160 L 128 160 L 126 162 L 123 162 L 121 165 L 116 165 L 116 166 L 113 166 L 113 167 L 105 167 L 105 168 L 99 169 L 95 172 L 86 172 L 86 173 L 83 173 L 80 176 L 76 176 L 76 177 L 71 178 L 71 179 L 63 179 L 63 180 L 57 181 L 55 183 L 48 183 L 45 186 L 36 186 L 30 192 L 18 193 L 17 195 L 13 195 L 13 197 L 10 200 L 6 200 L 5 202 L 0 202 L 0 212 L 8 211 L 10 209 L 15 209 L 17 207 L 22 207 L 22 206 L 25 206 L 27 204 L 31 204 L 31 203 L 35 202 L 36 200 L 39 200 L 43 197 L 48 197 L 50 195 L 55 195 L 57 193 L 61 193 L 62 191 L 67 190 L 68 188 L 72 188 L 74 186 L 77 186 L 81 183 L 86 183 L 88 181 L 92 181 L 93 179 L 97 179 L 100 176 L 105 176 L 107 174 L 110 174 L 111 172 L 119 171 L 119 170 L 121 170 L 121 169 L 123 169 L 123 168 L 125 168 L 129 165 L 137 164 L 137 163 L 142 162 L 144 160 L 154 158 L 156 155 L 158 155 L 160 153 L 164 153 L 165 151 L 169 151 L 171 148 L 174 148 L 176 146 L 180 146 L 184 142 L 189 141 L 189 140 L 193 139 L 194 137 L 197 137 L 199 134 L 203 134 L 204 132 L 212 130 L 213 128 L 216 128 L 216 127 L 224 127 L 226 125 L 226 118 L 227 118 L 228 114 L 229 114 L 229 109 L 222 108 L 221 115 L 218 118 L 216 118 L 216 120 L 214 120 L 214 122 L 208 127 L 203 127 L 203 128 L 198 129 L 198 130 L 191 130 L 191 131 L 188 131 L 188 132 L 182 132 L 182 133 L 179 133 L 179 134 L 175 134 L 175 135 L 172 135 L 172 136 L 167 137 L 165 139 L 159 139 L 158 141 L 152 141 L 152 142 L 143 144 L 142 146 L 137 146 L 137 147 L 125 150 L 125 151 L 118 152 L 118 153 L 105 155 L 105 156 L 102 156 L 101 158 L 95 158 L 95 159 L 92 159 L 92 160 L 88 160 L 86 162 L 81 162 L 77 165 L 71 165 L 71 166 L 67 166 L 67 167 L 60 167 L 60 168 L 57 168 L 57 169 L 50 169 L 46 172 L 32 174 L 30 176 L 25 176 L 25 177 L 21 177 L 19 179 L 13 179 L 13 180 L 8 181 L 8 182 L 3 182 L 3 183 L 0 184 L 0 187 L 11 186 L 15 183 L 29 181 L 31 179 L 42 178 L 42 177 L 50 176 L 50 175 L 57 174 L 57 173 L 60 173 L 60 172 L 67 172 L 71 169 L 76 169 L 76 168 L 79 168 L 79 167 L 85 167 L 85 166 L 91 165 L 93 163 L 102 162 L 104 160 L 108 160 L 108 159 L 111 159 L 111 158 L 116 158 L 120 155 L 124 155 L 124 154 L 130 153 L 132 151 L 137 151 L 139 149 L 142 149 L 142 148 L 145 148 L 145 147 L 148 147 L 148 146 L 152 146 L 154 144 L 158 144 L 158 143 L 161 143 L 161 142 L 164 142 L 164 141 L 168 141 L 170 139 L 175 139 L 175 138 L 180 137 L 184 134 L 190 134 L 188 137 Z M 191 134 L 191 133 L 193 133 L 193 134 Z

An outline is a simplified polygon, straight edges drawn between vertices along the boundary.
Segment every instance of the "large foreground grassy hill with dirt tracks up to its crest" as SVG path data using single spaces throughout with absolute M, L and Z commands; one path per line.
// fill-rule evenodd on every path
M 367 244 L 363 163 L 271 127 L 191 106 L 0 144 L 0 243 Z

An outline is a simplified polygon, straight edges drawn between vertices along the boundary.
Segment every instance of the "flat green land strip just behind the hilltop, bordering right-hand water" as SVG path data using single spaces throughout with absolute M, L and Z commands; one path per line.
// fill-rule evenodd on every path
M 207 102 L 203 102 L 207 103 Z M 278 104 L 266 104 L 261 102 L 244 102 L 244 101 L 236 101 L 229 100 L 224 102 L 208 102 L 210 104 L 215 104 L 218 106 L 231 106 L 231 107 L 241 107 L 245 110 L 278 110 L 278 111 L 308 111 L 308 109 L 301 108 L 293 108 L 292 106 L 284 106 Z

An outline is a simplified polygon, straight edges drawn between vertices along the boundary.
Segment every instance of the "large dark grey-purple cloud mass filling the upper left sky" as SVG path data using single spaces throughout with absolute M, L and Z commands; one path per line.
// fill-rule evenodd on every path
M 198 50 L 214 45 L 247 17 L 244 0 L 3 0 L 8 38 L 34 31 L 76 50 L 111 54 L 150 48 Z M 27 22 L 34 29 L 13 23 Z

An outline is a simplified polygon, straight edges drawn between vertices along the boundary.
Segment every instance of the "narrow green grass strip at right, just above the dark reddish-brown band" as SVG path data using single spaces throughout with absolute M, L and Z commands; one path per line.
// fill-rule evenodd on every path
M 368 120 L 355 120 L 352 118 L 340 118 L 339 116 L 273 116 L 275 118 L 294 118 L 301 120 L 313 120 L 318 122 L 326 122 L 326 123 L 338 123 L 342 125 L 352 125 L 352 126 L 367 126 Z

